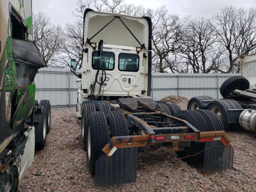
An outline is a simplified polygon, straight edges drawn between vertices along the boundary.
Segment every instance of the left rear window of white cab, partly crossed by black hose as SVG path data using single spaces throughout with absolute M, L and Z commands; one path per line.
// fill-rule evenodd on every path
M 112 52 L 103 52 L 102 55 L 102 65 L 101 67 L 105 70 L 113 70 L 115 63 L 115 54 Z M 92 52 L 92 68 L 100 68 L 100 56 L 98 56 L 98 51 Z

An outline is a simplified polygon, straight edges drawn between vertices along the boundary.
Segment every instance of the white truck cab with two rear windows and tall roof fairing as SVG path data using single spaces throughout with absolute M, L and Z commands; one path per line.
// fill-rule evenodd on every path
M 117 100 L 150 96 L 151 25 L 148 17 L 86 9 L 78 117 L 82 102 L 95 97 Z M 102 57 L 98 50 L 100 42 L 103 42 Z M 98 71 L 100 68 L 104 72 Z M 100 78 L 104 80 L 102 85 L 97 83 Z

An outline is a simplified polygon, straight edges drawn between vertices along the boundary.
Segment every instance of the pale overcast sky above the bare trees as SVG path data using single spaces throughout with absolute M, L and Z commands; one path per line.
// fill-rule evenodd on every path
M 85 1 L 85 0 L 84 0 Z M 111 1 L 111 0 L 110 0 Z M 125 0 L 128 4 L 143 5 L 146 8 L 157 8 L 166 5 L 169 12 L 180 16 L 212 16 L 224 6 L 250 8 L 256 6 L 256 0 Z M 47 12 L 52 23 L 64 26 L 76 18 L 71 11 L 76 8 L 76 0 L 32 0 L 33 11 Z

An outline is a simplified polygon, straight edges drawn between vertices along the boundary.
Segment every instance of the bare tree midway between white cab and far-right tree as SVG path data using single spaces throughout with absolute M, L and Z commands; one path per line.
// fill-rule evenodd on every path
M 183 58 L 181 63 L 192 68 L 194 73 L 209 73 L 213 70 L 210 54 L 216 42 L 216 33 L 210 20 L 194 18 L 186 22 L 178 34 L 177 54 Z

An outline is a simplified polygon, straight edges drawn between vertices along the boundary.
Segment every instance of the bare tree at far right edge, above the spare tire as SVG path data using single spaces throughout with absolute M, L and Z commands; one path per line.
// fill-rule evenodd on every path
M 237 56 L 248 54 L 256 48 L 255 20 L 254 8 L 245 10 L 234 6 L 222 8 L 213 16 L 213 26 L 219 41 L 227 50 L 229 59 L 229 66 L 224 69 L 218 68 L 219 72 L 239 72 Z

